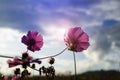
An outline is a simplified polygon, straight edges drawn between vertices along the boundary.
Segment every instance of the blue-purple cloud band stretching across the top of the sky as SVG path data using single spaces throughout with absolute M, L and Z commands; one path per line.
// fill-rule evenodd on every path
M 96 8 L 96 5 L 101 5 L 102 2 L 104 0 L 1 0 L 0 26 L 21 31 L 35 29 L 44 32 L 42 27 L 45 26 L 41 26 L 42 23 L 54 24 L 60 19 L 75 25 L 94 25 L 102 22 L 102 15 L 107 13 L 104 8 Z M 89 10 L 91 14 L 87 13 Z M 97 16 L 99 14 L 101 16 Z

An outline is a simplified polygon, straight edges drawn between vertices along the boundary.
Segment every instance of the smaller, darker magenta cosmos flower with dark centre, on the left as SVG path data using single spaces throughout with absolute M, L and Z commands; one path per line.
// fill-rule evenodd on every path
M 43 37 L 37 31 L 28 31 L 27 35 L 22 37 L 22 43 L 27 45 L 27 49 L 38 51 L 43 46 Z

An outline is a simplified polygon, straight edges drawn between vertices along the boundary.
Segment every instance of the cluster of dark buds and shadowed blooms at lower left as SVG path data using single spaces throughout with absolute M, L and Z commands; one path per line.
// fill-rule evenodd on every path
M 12 77 L 8 77 L 8 76 L 4 76 L 4 80 L 27 80 L 27 78 L 29 77 L 29 75 L 31 74 L 28 70 L 27 70 L 27 66 L 34 69 L 34 70 L 37 70 L 35 69 L 35 64 L 32 64 L 30 66 L 30 62 L 29 62 L 29 57 L 28 59 L 25 58 L 26 56 L 28 56 L 28 53 L 23 53 L 22 55 L 22 59 L 23 59 L 23 62 L 20 63 L 22 65 L 22 67 L 24 68 L 24 70 L 21 72 L 20 68 L 16 68 L 14 70 L 14 75 Z M 14 59 L 15 60 L 15 59 Z M 20 60 L 20 59 L 19 59 Z M 21 61 L 21 60 L 20 60 Z M 42 74 L 45 74 L 45 76 L 48 78 L 48 79 L 54 79 L 55 77 L 55 69 L 54 67 L 52 66 L 52 64 L 54 64 L 54 61 L 55 59 L 54 58 L 49 58 L 48 62 L 50 64 L 50 66 L 48 67 L 45 67 L 45 66 L 42 66 L 39 68 L 39 75 L 40 77 L 42 76 Z M 14 62 L 14 61 L 13 61 Z M 17 62 L 17 61 L 16 61 Z M 38 64 L 40 64 L 41 61 L 38 61 Z M 9 67 L 13 67 L 12 63 L 9 63 Z

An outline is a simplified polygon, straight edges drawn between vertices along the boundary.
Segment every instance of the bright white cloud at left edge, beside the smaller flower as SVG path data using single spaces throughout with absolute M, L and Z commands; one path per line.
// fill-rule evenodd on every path
M 0 55 L 4 56 L 19 56 L 20 52 L 18 50 L 22 50 L 20 45 L 21 34 L 17 30 L 13 30 L 10 28 L 0 28 Z M 5 75 L 12 74 L 12 69 L 8 68 L 6 58 L 0 57 L 0 72 Z

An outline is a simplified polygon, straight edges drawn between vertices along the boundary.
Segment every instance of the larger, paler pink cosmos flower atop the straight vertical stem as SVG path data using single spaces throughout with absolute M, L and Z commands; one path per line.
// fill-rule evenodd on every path
M 70 28 L 64 35 L 64 42 L 68 49 L 81 52 L 89 47 L 89 36 L 80 28 Z

